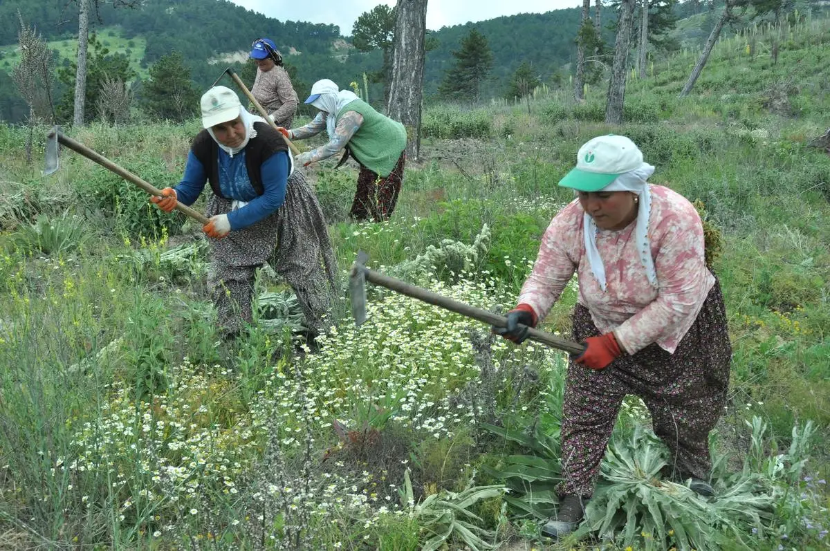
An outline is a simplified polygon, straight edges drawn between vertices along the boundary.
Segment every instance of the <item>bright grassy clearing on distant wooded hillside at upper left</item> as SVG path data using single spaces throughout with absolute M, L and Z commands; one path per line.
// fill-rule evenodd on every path
M 142 80 L 149 76 L 147 68 L 142 66 L 144 49 L 147 40 L 143 37 L 125 38 L 121 34 L 120 27 L 102 27 L 97 32 L 97 37 L 102 46 L 110 50 L 110 53 L 124 54 L 129 59 L 129 67 L 135 71 Z M 67 61 L 75 61 L 77 56 L 78 41 L 65 39 L 47 42 L 49 49 L 56 51 L 55 65 L 61 66 Z M 20 63 L 20 51 L 17 44 L 0 46 L 0 71 L 12 73 L 12 69 Z

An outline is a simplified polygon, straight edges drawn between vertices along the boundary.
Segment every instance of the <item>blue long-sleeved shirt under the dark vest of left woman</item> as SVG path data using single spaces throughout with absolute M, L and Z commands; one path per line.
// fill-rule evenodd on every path
M 244 207 L 227 213 L 227 220 L 232 230 L 256 224 L 285 202 L 289 166 L 286 151 L 277 151 L 261 164 L 262 195 L 256 195 L 251 179 L 248 178 L 244 149 L 233 157 L 219 149 L 218 163 L 219 189 L 222 190 L 222 195 L 248 202 Z M 185 205 L 192 205 L 202 193 L 205 183 L 207 183 L 205 167 L 191 151 L 188 154 L 188 163 L 184 167 L 182 181 L 174 188 L 176 197 Z

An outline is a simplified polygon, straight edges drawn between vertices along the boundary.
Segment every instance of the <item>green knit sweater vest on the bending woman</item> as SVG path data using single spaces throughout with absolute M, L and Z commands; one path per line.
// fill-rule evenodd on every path
M 356 111 L 364 118 L 358 131 L 349 139 L 354 158 L 381 178 L 386 178 L 407 147 L 407 130 L 397 120 L 378 113 L 364 100 L 349 101 L 339 110 L 337 118 L 347 111 Z

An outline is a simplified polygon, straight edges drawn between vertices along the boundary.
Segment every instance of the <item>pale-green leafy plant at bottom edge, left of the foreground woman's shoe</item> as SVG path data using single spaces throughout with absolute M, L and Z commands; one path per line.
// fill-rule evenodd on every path
M 505 486 L 473 486 L 461 492 L 442 490 L 437 494 L 427 495 L 419 504 L 415 503 L 412 480 L 409 470 L 403 473 L 403 488 L 399 490 L 401 504 L 408 508 L 410 518 L 417 519 L 422 527 L 423 543 L 421 551 L 437 551 L 445 545 L 464 544 L 472 551 L 479 549 L 496 549 L 496 534 L 474 524 L 481 523 L 481 518 L 469 508 L 481 500 L 504 495 Z

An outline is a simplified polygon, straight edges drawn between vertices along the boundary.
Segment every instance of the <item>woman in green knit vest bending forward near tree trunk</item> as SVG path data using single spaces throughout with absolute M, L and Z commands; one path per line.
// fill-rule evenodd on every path
M 311 86 L 311 95 L 305 103 L 315 106 L 320 113 L 303 127 L 280 131 L 288 139 L 305 139 L 325 129 L 330 141 L 297 155 L 295 162 L 305 167 L 345 149 L 340 163 L 351 155 L 360 164 L 358 188 L 349 216 L 358 222 L 370 217 L 374 222 L 388 220 L 403 181 L 407 147 L 403 124 L 381 115 L 354 92 L 339 90 L 328 79 L 318 80 Z

